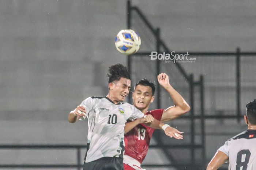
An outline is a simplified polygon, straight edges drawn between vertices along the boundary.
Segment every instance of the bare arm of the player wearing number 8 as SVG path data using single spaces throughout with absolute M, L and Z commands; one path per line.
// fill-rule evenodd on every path
M 206 170 L 217 170 L 228 159 L 229 159 L 229 157 L 224 152 L 218 151 L 212 158 L 211 162 L 208 164 Z

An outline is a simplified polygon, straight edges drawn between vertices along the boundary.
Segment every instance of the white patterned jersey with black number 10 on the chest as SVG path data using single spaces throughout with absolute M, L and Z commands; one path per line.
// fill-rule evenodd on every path
M 144 114 L 129 103 L 116 105 L 107 97 L 89 97 L 81 105 L 86 110 L 89 126 L 85 162 L 102 157 L 122 158 L 125 123 Z

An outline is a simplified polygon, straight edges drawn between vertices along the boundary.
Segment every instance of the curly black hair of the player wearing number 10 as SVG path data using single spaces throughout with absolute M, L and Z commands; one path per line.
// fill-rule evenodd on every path
M 118 81 L 121 78 L 131 79 L 131 76 L 127 71 L 127 68 L 123 64 L 119 64 L 119 63 L 115 65 L 111 65 L 109 67 L 107 76 L 109 77 L 109 83 L 112 83 L 116 80 Z

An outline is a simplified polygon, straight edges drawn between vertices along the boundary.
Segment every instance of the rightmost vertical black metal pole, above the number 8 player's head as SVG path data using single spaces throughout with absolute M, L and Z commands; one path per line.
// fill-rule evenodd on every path
M 240 122 L 240 97 L 241 97 L 241 84 L 240 84 L 240 48 L 237 48 L 236 56 L 236 85 L 237 85 L 237 122 Z

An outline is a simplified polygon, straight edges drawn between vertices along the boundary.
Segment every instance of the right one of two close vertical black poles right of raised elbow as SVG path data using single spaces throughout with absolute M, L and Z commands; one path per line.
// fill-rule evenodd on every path
M 205 169 L 206 166 L 206 150 L 205 150 L 205 132 L 204 132 L 204 77 L 203 75 L 200 76 L 200 104 L 201 104 L 201 140 L 202 140 L 202 167 Z

